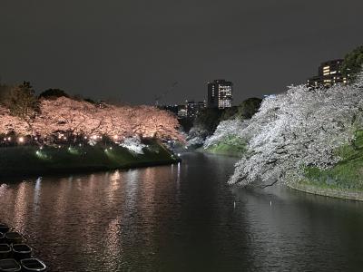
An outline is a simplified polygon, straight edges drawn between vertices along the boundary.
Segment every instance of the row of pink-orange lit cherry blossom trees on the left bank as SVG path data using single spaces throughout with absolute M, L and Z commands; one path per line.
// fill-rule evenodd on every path
M 99 141 L 103 136 L 119 143 L 135 136 L 183 141 L 176 118 L 151 106 L 99 105 L 63 96 L 41 99 L 39 113 L 26 121 L 11 115 L 10 109 L 4 106 L 0 107 L 0 114 L 0 133 L 40 135 L 45 143 L 80 139 Z

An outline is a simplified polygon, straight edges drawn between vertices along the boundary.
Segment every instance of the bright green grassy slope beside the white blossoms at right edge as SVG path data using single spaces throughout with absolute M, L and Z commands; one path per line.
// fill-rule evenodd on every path
M 352 145 L 338 149 L 342 158 L 329 170 L 308 168 L 306 179 L 291 188 L 343 199 L 363 200 L 363 131 L 356 132 Z

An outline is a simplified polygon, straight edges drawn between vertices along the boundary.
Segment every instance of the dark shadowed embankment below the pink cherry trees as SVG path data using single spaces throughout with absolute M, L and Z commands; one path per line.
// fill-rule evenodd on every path
M 113 145 L 61 148 L 34 146 L 0 148 L 0 176 L 75 172 L 86 170 L 115 170 L 179 161 L 171 151 L 157 141 L 148 141 L 143 154 L 135 154 Z

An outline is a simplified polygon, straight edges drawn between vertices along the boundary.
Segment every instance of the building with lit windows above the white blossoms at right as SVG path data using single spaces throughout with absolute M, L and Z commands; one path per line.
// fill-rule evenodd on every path
M 348 83 L 348 79 L 341 73 L 341 64 L 343 60 L 332 60 L 321 63 L 318 75 L 308 79 L 309 87 L 325 86 L 330 87 L 337 83 Z

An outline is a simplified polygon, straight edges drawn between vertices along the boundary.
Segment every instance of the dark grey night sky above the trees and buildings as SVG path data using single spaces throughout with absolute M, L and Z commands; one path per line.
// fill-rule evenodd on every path
M 305 83 L 363 44 L 362 0 L 0 0 L 3 83 L 94 99 L 202 100 L 231 80 L 235 102 Z

